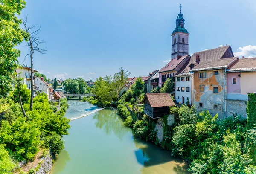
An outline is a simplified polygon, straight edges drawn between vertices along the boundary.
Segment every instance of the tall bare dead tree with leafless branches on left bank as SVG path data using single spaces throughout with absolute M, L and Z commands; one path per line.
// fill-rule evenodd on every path
M 25 40 L 27 41 L 26 46 L 29 47 L 30 53 L 25 56 L 30 57 L 30 64 L 31 64 L 31 76 L 30 76 L 30 83 L 31 83 L 31 97 L 30 97 L 30 106 L 29 110 L 32 110 L 33 108 L 33 93 L 34 93 L 34 83 L 33 83 L 33 56 L 34 52 L 39 52 L 41 54 L 46 54 L 47 49 L 46 47 L 41 48 L 41 44 L 45 43 L 44 39 L 39 38 L 38 34 L 40 33 L 41 27 L 37 25 L 28 26 L 27 23 L 28 15 L 25 16 L 25 18 L 22 20 L 24 25 L 24 30 L 26 32 Z

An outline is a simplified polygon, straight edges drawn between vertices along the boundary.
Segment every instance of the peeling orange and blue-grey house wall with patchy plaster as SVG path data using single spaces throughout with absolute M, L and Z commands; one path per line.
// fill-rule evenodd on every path
M 197 111 L 209 110 L 212 116 L 218 113 L 219 118 L 223 118 L 225 110 L 225 73 L 224 70 L 218 70 L 218 75 L 214 75 L 212 70 L 207 70 L 206 78 L 199 78 L 199 72 L 194 72 L 194 105 Z M 204 93 L 200 93 L 200 86 L 204 86 Z M 213 87 L 218 87 L 218 93 L 213 93 Z M 200 103 L 203 107 L 200 107 Z M 217 109 L 214 109 L 217 105 Z

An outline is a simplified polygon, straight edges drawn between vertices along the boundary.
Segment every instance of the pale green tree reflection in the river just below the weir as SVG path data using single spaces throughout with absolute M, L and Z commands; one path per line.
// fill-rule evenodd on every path
M 115 110 L 105 109 L 94 113 L 93 119 L 96 120 L 96 128 L 103 129 L 107 135 L 113 132 L 120 140 L 122 140 L 125 133 L 130 131 L 129 128 L 124 127 Z

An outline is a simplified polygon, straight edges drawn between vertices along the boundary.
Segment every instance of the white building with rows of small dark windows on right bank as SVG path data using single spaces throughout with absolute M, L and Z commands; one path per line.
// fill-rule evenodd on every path
M 193 73 L 182 73 L 175 76 L 175 98 L 180 104 L 193 103 Z

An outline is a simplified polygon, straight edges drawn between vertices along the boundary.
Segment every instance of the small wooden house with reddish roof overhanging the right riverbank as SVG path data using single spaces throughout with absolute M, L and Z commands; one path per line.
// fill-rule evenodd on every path
M 175 106 L 169 93 L 146 93 L 144 113 L 153 119 L 169 115 L 170 106 Z

